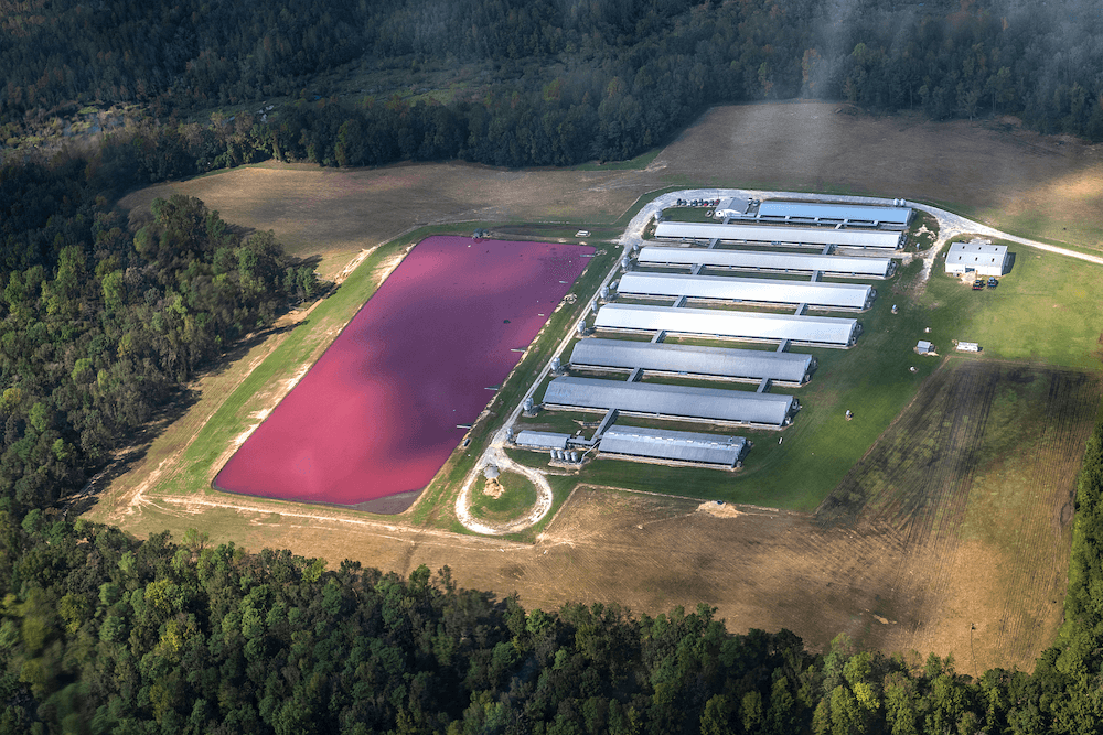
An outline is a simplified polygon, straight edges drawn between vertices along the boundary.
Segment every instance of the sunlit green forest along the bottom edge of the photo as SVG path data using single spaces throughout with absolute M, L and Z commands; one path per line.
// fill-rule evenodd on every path
M 526 612 L 288 552 L 0 512 L 0 734 L 1082 735 L 1103 727 L 1103 425 L 1057 644 L 1034 673 L 808 652 L 714 610 Z

